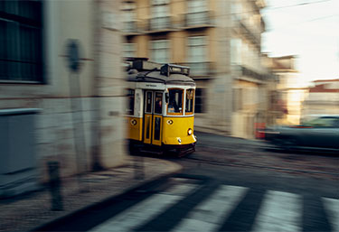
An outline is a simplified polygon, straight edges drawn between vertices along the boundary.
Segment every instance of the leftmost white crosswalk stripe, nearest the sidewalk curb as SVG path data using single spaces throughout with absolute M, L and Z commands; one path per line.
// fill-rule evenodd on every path
M 155 218 L 158 214 L 169 209 L 177 201 L 184 197 L 192 190 L 198 187 L 197 184 L 183 183 L 171 187 L 161 193 L 156 193 L 137 205 L 121 212 L 118 216 L 108 219 L 108 221 L 93 227 L 93 232 L 109 232 L 109 231 L 129 231 L 134 227 L 140 226 L 151 218 Z

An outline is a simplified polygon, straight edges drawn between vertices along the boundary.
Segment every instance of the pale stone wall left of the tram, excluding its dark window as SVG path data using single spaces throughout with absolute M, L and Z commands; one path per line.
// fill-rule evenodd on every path
M 48 180 L 49 161 L 60 162 L 62 176 L 123 164 L 126 83 L 119 1 L 48 0 L 43 7 L 45 83 L 0 82 L 0 109 L 42 110 L 34 131 L 41 181 Z M 80 43 L 78 75 L 67 68 L 70 39 Z

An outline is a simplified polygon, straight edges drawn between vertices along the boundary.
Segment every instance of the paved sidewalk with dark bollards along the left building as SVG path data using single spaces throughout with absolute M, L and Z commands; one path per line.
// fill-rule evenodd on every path
M 136 179 L 136 170 L 144 164 L 144 179 Z M 136 169 L 136 166 L 139 167 Z M 154 181 L 165 175 L 179 172 L 182 167 L 174 162 L 147 157 L 130 157 L 127 164 L 102 172 L 90 172 L 83 177 L 88 191 L 80 192 L 75 177 L 62 180 L 62 211 L 51 210 L 51 193 L 41 190 L 26 196 L 0 200 L 0 231 L 29 231 L 57 218 L 85 209 L 90 205 Z M 140 174 L 140 172 L 137 172 Z M 140 176 L 140 175 L 139 175 Z

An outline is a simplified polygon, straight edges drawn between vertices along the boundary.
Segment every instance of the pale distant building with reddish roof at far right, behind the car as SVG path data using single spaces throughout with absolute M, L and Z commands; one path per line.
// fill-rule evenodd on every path
M 318 79 L 307 89 L 303 103 L 302 118 L 339 115 L 339 79 Z

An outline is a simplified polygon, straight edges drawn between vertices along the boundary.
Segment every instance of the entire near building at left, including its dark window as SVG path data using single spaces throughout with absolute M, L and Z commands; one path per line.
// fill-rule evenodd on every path
M 4 133 L 2 127 L 0 137 L 9 139 L 11 149 L 21 145 L 19 137 L 36 138 L 34 164 L 0 170 L 2 178 L 27 169 L 47 180 L 49 161 L 60 163 L 62 176 L 124 162 L 118 9 L 118 0 L 0 2 L 0 117 L 13 108 L 19 115 L 41 109 L 33 132 L 15 127 Z M 80 71 L 71 72 L 78 57 Z M 8 120 L 20 123 L 17 117 Z M 3 158 L 10 155 L 0 150 Z

